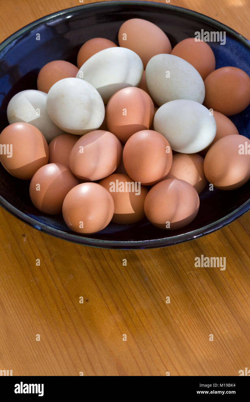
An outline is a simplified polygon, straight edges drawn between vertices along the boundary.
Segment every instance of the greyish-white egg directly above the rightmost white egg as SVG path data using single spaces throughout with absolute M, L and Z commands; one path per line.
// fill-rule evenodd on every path
M 145 76 L 150 95 L 159 106 L 175 99 L 203 103 L 203 79 L 198 71 L 181 57 L 157 54 L 146 65 Z

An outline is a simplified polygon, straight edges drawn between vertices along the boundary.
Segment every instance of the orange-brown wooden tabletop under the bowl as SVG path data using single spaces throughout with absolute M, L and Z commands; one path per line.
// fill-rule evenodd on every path
M 0 0 L 0 41 L 79 4 Z M 206 14 L 250 39 L 249 0 L 170 4 Z M 112 376 L 237 376 L 250 369 L 249 232 L 247 213 L 189 243 L 107 250 L 53 238 L 0 209 L 0 369 Z M 226 270 L 195 268 L 201 254 L 226 257 Z

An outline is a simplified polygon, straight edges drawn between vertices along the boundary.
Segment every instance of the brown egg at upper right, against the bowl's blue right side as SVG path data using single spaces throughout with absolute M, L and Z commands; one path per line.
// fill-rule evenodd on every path
M 204 84 L 207 109 L 232 116 L 250 104 L 250 77 L 240 68 L 218 68 L 207 76 Z

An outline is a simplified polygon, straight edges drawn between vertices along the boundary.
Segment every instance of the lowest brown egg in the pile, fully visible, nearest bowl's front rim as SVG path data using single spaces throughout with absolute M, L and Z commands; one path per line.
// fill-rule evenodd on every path
M 63 201 L 63 219 L 78 233 L 96 233 L 104 229 L 114 214 L 110 192 L 96 183 L 73 187 Z

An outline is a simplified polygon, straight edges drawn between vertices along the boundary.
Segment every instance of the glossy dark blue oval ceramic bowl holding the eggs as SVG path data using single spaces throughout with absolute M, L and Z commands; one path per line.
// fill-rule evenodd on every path
M 41 18 L 14 33 L 0 45 L 0 131 L 8 125 L 9 100 L 24 89 L 37 89 L 37 74 L 44 64 L 61 59 L 76 64 L 81 45 L 93 37 L 118 44 L 118 30 L 129 18 L 144 18 L 168 35 L 172 46 L 196 31 L 226 31 L 226 44 L 209 43 L 216 68 L 235 66 L 250 75 L 250 42 L 227 26 L 202 14 L 161 3 L 119 1 L 69 8 Z M 37 34 L 40 40 L 37 41 Z M 250 137 L 250 107 L 233 116 L 240 134 Z M 185 228 L 160 230 L 146 219 L 133 225 L 110 224 L 99 233 L 80 236 L 70 232 L 61 215 L 38 211 L 29 198 L 29 182 L 14 178 L 0 166 L 0 205 L 23 222 L 71 242 L 107 248 L 170 246 L 204 236 L 250 209 L 250 181 L 234 191 L 209 191 L 200 195 L 197 217 Z

